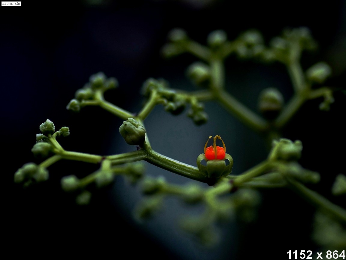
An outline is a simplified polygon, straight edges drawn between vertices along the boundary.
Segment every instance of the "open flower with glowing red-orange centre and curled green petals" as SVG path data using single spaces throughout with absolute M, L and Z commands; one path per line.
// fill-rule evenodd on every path
M 204 145 L 204 154 L 200 154 L 197 157 L 197 166 L 200 173 L 204 176 L 218 179 L 219 177 L 227 176 L 232 172 L 233 158 L 229 154 L 226 154 L 226 146 L 220 136 L 215 136 L 213 138 L 213 145 L 207 147 L 208 141 L 211 137 L 212 136 L 209 136 L 209 139 Z M 217 139 L 222 141 L 223 147 L 216 145 Z M 204 166 L 201 163 L 203 160 L 207 162 L 207 166 Z M 228 165 L 226 165 L 225 160 L 228 160 Z

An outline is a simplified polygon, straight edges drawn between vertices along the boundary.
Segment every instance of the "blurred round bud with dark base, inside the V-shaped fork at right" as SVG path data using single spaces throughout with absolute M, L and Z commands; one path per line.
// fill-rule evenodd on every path
M 276 88 L 262 90 L 258 98 L 258 107 L 263 116 L 269 120 L 275 119 L 281 112 L 283 96 Z

